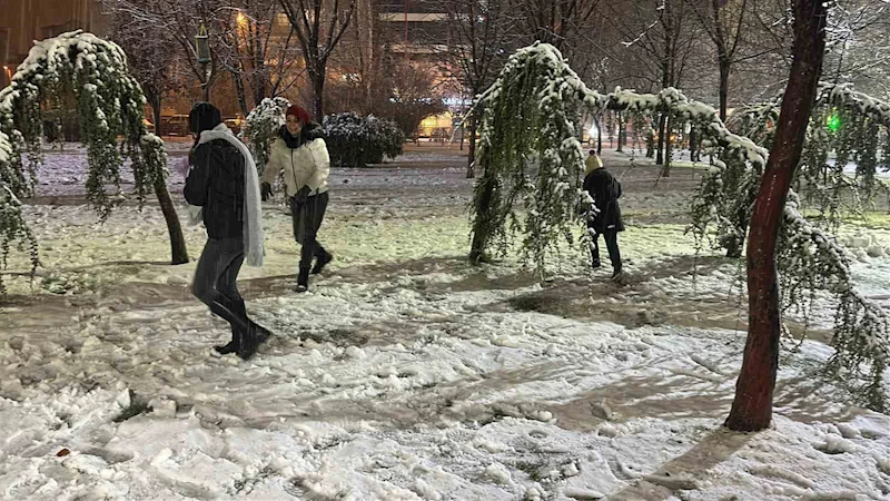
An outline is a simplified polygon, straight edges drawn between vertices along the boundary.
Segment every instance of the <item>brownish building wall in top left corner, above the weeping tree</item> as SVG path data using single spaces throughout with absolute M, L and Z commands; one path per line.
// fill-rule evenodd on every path
M 106 35 L 100 0 L 0 0 L 0 88 L 9 85 L 34 40 L 77 29 Z

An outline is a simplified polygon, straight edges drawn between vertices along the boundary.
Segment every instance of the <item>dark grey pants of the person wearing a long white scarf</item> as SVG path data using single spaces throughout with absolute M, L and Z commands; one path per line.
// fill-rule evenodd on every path
M 195 268 L 191 293 L 231 324 L 233 330 L 247 332 L 250 321 L 236 284 L 243 263 L 241 237 L 208 238 Z

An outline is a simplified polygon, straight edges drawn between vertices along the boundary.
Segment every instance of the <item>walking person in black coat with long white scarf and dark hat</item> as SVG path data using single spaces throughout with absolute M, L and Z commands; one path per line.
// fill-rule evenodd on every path
M 198 102 L 189 114 L 195 147 L 185 196 L 200 207 L 207 228 L 191 292 L 231 325 L 231 341 L 215 346 L 222 354 L 250 358 L 269 331 L 248 318 L 236 279 L 247 255 L 250 266 L 263 265 L 263 225 L 256 166 L 247 148 L 228 130 L 217 108 Z

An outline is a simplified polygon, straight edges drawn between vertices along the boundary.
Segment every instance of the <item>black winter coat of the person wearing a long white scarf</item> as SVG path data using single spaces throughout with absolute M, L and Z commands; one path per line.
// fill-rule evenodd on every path
M 198 145 L 191 153 L 186 178 L 186 200 L 204 207 L 204 226 L 210 238 L 244 236 L 244 157 L 225 139 Z

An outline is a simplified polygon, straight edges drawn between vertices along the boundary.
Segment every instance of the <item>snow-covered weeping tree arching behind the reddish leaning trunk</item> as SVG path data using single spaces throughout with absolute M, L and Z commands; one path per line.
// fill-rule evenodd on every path
M 823 91 L 820 102 L 881 114 L 890 109 L 841 89 L 848 88 Z M 736 234 L 740 225 L 748 227 L 768 150 L 730 131 L 714 108 L 676 89 L 654 95 L 616 89 L 601 95 L 587 89 L 552 46 L 536 43 L 511 56 L 479 100 L 485 112 L 478 157 L 482 176 L 476 183 L 472 216 L 472 261 L 484 259 L 492 249 L 505 254 L 518 235 L 521 256 L 543 273 L 548 256 L 558 253 L 561 239 L 575 243 L 573 235 L 578 232 L 573 229 L 585 223 L 584 210 L 578 208 L 591 202 L 581 190 L 580 179 L 584 153 L 577 140 L 577 117 L 584 109 L 593 115 L 621 110 L 634 120 L 664 116 L 678 127 L 691 124 L 702 140 L 703 155 L 712 163 L 694 198 L 691 232 L 699 242 L 711 238 L 718 245 L 720 237 Z M 759 127 L 765 134 L 767 128 Z M 799 206 L 800 199 L 792 193 L 779 235 L 782 306 L 800 305 L 809 297 L 801 291 L 824 289 L 835 296 L 840 306 L 832 366 L 868 371 L 864 390 L 871 405 L 879 407 L 884 395 L 887 316 L 856 291 L 841 244 L 813 228 Z M 743 237 L 744 229 L 740 235 Z

